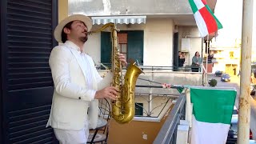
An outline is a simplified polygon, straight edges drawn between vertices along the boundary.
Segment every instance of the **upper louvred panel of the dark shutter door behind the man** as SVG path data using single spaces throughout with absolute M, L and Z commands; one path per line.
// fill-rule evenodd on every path
M 8 90 L 53 86 L 51 13 L 50 0 L 7 2 Z

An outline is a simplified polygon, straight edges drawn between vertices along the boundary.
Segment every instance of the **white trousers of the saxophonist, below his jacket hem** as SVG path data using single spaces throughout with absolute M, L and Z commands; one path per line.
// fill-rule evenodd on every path
M 88 122 L 82 130 L 54 129 L 54 134 L 60 144 L 86 144 L 89 136 Z

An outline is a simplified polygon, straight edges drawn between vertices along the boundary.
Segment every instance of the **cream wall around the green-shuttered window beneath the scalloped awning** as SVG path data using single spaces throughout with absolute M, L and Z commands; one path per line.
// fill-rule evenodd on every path
M 102 26 L 102 25 L 101 25 Z M 97 30 L 100 26 L 93 26 Z M 171 18 L 147 18 L 146 24 L 118 25 L 120 30 L 144 30 L 143 62 L 145 66 L 172 66 L 173 30 Z M 92 34 L 84 46 L 86 53 L 101 59 L 101 34 Z

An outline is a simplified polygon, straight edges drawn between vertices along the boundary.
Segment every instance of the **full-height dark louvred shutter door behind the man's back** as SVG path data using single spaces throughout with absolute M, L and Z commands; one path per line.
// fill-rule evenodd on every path
M 57 0 L 1 1 L 1 142 L 54 143 L 46 128 L 53 82 L 48 59 L 57 45 Z

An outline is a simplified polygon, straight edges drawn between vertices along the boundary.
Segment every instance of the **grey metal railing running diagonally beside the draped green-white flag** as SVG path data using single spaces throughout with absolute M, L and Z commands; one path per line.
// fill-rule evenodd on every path
M 175 144 L 177 129 L 180 120 L 185 119 L 186 114 L 186 95 L 179 96 L 174 108 L 170 111 L 166 122 L 162 125 L 158 136 L 154 139 L 154 144 Z

